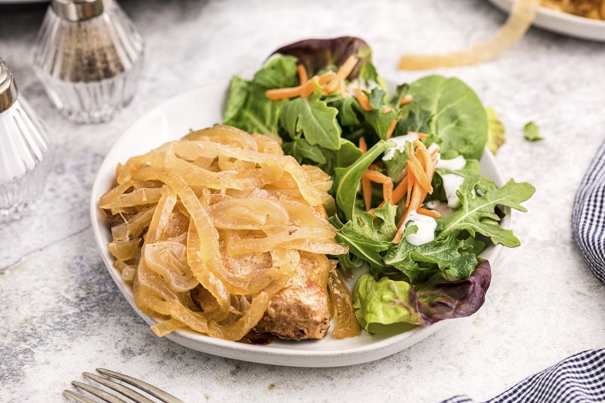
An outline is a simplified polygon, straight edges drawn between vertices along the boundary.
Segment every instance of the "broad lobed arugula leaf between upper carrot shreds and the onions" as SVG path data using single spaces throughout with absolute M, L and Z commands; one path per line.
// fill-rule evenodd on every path
M 309 97 L 294 98 L 284 105 L 281 111 L 281 126 L 293 140 L 304 134 L 305 140 L 312 146 L 338 150 L 340 148 L 341 129 L 336 121 L 338 109 L 327 106 L 322 100 L 321 88 L 317 86 Z

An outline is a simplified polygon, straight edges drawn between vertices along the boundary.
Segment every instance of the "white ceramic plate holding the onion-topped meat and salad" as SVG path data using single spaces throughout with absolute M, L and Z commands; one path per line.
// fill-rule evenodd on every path
M 119 272 L 112 266 L 114 259 L 106 247 L 106 244 L 111 242 L 111 232 L 105 216 L 97 208 L 97 203 L 100 196 L 113 184 L 117 163 L 125 163 L 129 157 L 146 153 L 166 141 L 177 140 L 187 134 L 190 128 L 201 129 L 219 123 L 226 88 L 227 83 L 220 83 L 186 92 L 140 117 L 111 147 L 93 184 L 90 199 L 91 222 L 103 261 L 126 300 L 149 324 L 158 321 L 136 308 L 131 286 L 122 281 Z M 498 185 L 505 183 L 489 151 L 483 155 L 481 168 L 483 174 Z M 509 228 L 509 216 L 510 214 L 507 214 L 502 222 L 505 228 Z M 482 257 L 493 263 L 501 248 L 502 245 L 491 246 L 484 251 Z M 255 363 L 337 367 L 365 363 L 399 352 L 433 334 L 444 323 L 445 321 L 440 321 L 432 326 L 416 327 L 401 334 L 376 336 L 363 332 L 359 337 L 345 340 L 328 335 L 323 340 L 316 341 L 275 340 L 267 346 L 220 340 L 191 330 L 177 330 L 165 337 L 194 350 Z

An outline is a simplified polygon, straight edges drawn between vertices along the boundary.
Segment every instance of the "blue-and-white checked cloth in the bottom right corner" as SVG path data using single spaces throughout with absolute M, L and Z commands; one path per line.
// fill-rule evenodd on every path
M 588 350 L 538 372 L 486 403 L 605 402 L 605 349 Z M 474 403 L 454 396 L 442 403 Z

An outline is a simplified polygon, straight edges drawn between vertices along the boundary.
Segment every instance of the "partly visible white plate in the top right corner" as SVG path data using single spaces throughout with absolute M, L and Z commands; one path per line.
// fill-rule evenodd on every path
M 489 0 L 503 11 L 511 11 L 513 0 Z M 561 13 L 551 8 L 540 7 L 533 23 L 545 30 L 605 42 L 605 21 Z

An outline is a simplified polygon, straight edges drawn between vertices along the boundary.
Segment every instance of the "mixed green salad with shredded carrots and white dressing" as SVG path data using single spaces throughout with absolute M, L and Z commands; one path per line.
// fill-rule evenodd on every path
M 503 143 L 503 127 L 458 79 L 389 92 L 363 40 L 304 40 L 252 80 L 233 77 L 223 119 L 332 176 L 329 221 L 348 246 L 341 268 L 369 267 L 353 306 L 370 332 L 473 314 L 491 280 L 477 255 L 489 243 L 519 245 L 499 221 L 507 207 L 526 211 L 535 189 L 481 175 L 479 158 Z

